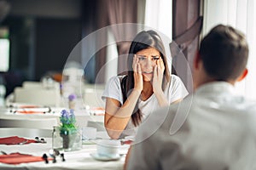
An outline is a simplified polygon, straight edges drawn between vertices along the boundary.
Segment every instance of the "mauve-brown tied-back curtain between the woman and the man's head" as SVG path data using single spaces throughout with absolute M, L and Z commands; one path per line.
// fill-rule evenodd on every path
M 189 93 L 193 91 L 192 68 L 202 26 L 200 0 L 172 0 L 172 65 Z M 175 47 L 177 46 L 177 47 Z M 183 53 L 181 53 L 183 52 Z

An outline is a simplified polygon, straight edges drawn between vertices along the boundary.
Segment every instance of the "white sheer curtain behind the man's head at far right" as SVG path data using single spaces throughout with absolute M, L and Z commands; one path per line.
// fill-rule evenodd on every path
M 249 44 L 248 75 L 236 83 L 237 93 L 256 99 L 256 2 L 254 0 L 205 0 L 203 34 L 218 24 L 234 26 L 245 33 Z M 218 13 L 216 13 L 218 11 Z

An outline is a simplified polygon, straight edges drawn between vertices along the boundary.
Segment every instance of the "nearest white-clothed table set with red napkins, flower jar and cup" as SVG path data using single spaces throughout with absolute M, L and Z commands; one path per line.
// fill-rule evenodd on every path
M 104 165 L 98 165 L 98 161 L 115 161 L 113 164 L 108 162 L 108 166 L 121 167 L 122 158 L 125 158 L 130 147 L 126 139 L 110 139 L 106 131 L 98 131 L 96 127 L 77 126 L 73 110 L 62 110 L 60 121 L 59 125 L 46 133 L 38 129 L 32 132 L 24 130 L 26 132 L 23 133 L 22 129 L 18 129 L 13 135 L 2 134 L 1 166 L 20 164 L 21 167 L 41 167 L 48 164 L 50 167 L 61 167 L 65 164 L 72 167 L 69 163 L 78 162 L 80 166 L 85 159 L 82 164 L 101 167 Z

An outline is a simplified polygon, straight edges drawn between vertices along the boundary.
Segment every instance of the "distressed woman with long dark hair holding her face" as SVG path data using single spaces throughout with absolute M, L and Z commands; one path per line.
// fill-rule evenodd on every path
M 155 31 L 137 34 L 127 67 L 127 74 L 108 81 L 102 95 L 106 99 L 104 125 L 112 139 L 135 135 L 152 111 L 188 94 L 180 78 L 170 74 L 164 44 Z

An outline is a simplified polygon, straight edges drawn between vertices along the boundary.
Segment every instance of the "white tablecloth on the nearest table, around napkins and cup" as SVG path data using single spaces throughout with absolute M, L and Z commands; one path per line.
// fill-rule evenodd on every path
M 97 136 L 102 136 L 101 133 L 97 133 Z M 104 134 L 105 135 L 105 134 Z M 0 134 L 1 137 L 1 134 Z M 2 136 L 3 137 L 3 136 Z M 47 144 L 23 144 L 23 145 L 5 145 L 0 144 L 0 150 L 6 153 L 20 152 L 23 154 L 32 154 L 34 156 L 43 156 L 46 153 L 49 156 L 49 150 L 51 149 L 51 138 L 46 138 Z M 96 144 L 83 144 L 82 150 L 64 152 L 66 161 L 61 161 L 61 157 L 57 157 L 56 163 L 49 161 L 45 164 L 44 161 L 22 163 L 19 165 L 9 165 L 0 163 L 0 169 L 123 169 L 125 162 L 125 154 L 129 148 L 129 145 L 121 146 L 119 153 L 123 156 L 118 161 L 96 161 L 90 154 L 96 152 Z

